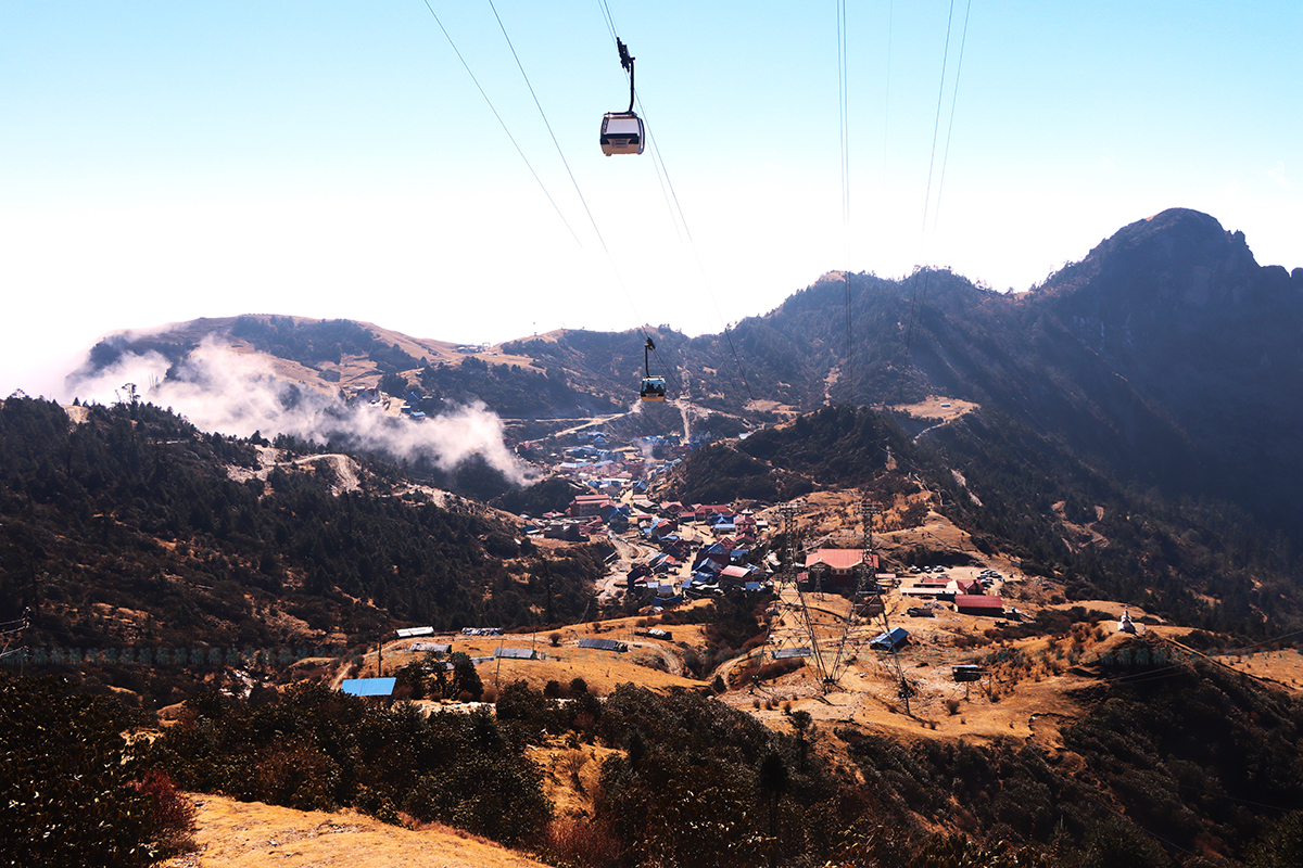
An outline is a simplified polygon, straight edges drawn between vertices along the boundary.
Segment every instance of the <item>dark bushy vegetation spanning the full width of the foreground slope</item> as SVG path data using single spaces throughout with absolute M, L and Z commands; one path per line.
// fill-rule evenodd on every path
M 466 691 L 463 673 L 408 669 L 400 682 L 431 695 Z M 777 731 L 706 691 L 623 685 L 603 701 L 579 679 L 546 691 L 508 685 L 495 716 L 425 716 L 309 683 L 249 700 L 206 692 L 186 701 L 180 725 L 128 750 L 120 731 L 136 718 L 121 705 L 5 678 L 3 769 L 20 809 L 0 824 L 7 846 L 27 847 L 8 864 L 146 864 L 185 838 L 190 815 L 175 781 L 302 809 L 438 821 L 558 865 L 1296 864 L 1299 703 L 1212 666 L 1119 662 L 1110 674 L 1058 751 L 1015 739 L 902 743 L 830 731 L 803 712 Z M 827 763 L 820 744 L 834 738 L 859 774 Z M 552 816 L 546 772 L 526 756 L 542 743 L 572 746 L 554 768 L 576 786 L 584 744 L 616 748 L 585 822 Z M 40 856 L 50 845 L 33 829 L 46 828 L 61 830 L 60 846 L 96 855 Z

